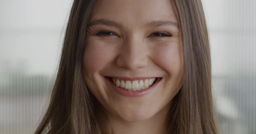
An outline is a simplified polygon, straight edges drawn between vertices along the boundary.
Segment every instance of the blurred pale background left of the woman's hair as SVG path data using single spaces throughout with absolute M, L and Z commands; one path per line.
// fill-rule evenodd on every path
M 71 6 L 71 0 L 0 0 L 0 134 L 35 130 Z

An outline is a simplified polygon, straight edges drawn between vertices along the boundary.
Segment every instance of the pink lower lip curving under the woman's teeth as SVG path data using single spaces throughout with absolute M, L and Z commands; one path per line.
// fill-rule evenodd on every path
M 162 78 L 157 78 L 156 82 L 152 86 L 148 87 L 147 89 L 142 89 L 142 90 L 138 90 L 138 91 L 130 91 L 130 90 L 125 90 L 125 89 L 123 89 L 121 87 L 115 86 L 115 84 L 112 82 L 112 78 L 111 77 L 106 77 L 106 79 L 111 84 L 113 89 L 115 89 L 115 91 L 117 91 L 117 93 L 119 93 L 119 94 L 121 94 L 123 96 L 127 96 L 127 97 L 140 97 L 140 96 L 147 95 L 162 80 Z

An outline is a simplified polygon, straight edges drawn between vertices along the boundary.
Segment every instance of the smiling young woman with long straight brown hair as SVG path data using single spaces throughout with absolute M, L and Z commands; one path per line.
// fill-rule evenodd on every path
M 200 0 L 74 0 L 36 134 L 217 134 Z

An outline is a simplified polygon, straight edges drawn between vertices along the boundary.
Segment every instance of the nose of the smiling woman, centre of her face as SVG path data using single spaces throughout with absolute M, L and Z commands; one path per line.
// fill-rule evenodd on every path
M 127 38 L 123 40 L 117 57 L 117 66 L 129 70 L 143 68 L 148 65 L 148 48 L 143 38 Z

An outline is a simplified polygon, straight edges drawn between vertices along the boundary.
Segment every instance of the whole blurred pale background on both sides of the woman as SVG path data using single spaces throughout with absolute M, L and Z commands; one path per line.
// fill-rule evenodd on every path
M 202 0 L 222 134 L 256 134 L 256 0 Z M 0 0 L 0 134 L 32 134 L 72 0 Z

